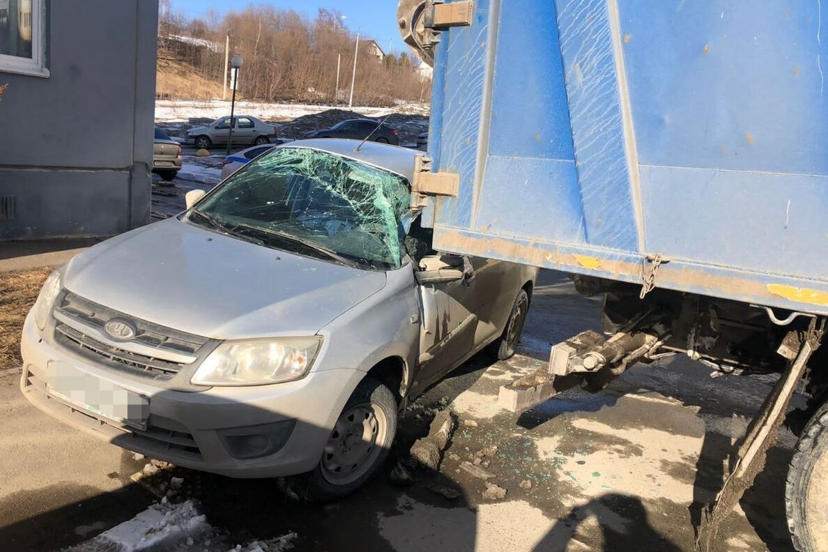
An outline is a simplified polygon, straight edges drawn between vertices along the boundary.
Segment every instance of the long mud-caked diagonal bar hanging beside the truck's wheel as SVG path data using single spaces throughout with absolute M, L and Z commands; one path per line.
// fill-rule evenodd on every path
M 716 497 L 715 502 L 708 504 L 702 513 L 701 525 L 696 535 L 696 549 L 710 550 L 715 540 L 716 531 L 722 521 L 729 516 L 736 503 L 744 492 L 753 485 L 753 479 L 762 471 L 768 449 L 776 442 L 779 426 L 785 418 L 785 410 L 791 401 L 797 383 L 802 379 L 808 360 L 819 348 L 825 332 L 825 319 L 811 320 L 810 328 L 799 348 L 796 358 L 782 372 L 773 390 L 765 399 L 762 408 L 751 420 L 747 433 L 744 435 L 736 461 L 724 481 L 724 486 Z M 787 341 L 787 339 L 786 339 Z M 790 347 L 790 343 L 784 345 Z M 787 349 L 786 349 L 787 351 Z M 785 353 L 785 351 L 780 351 Z

